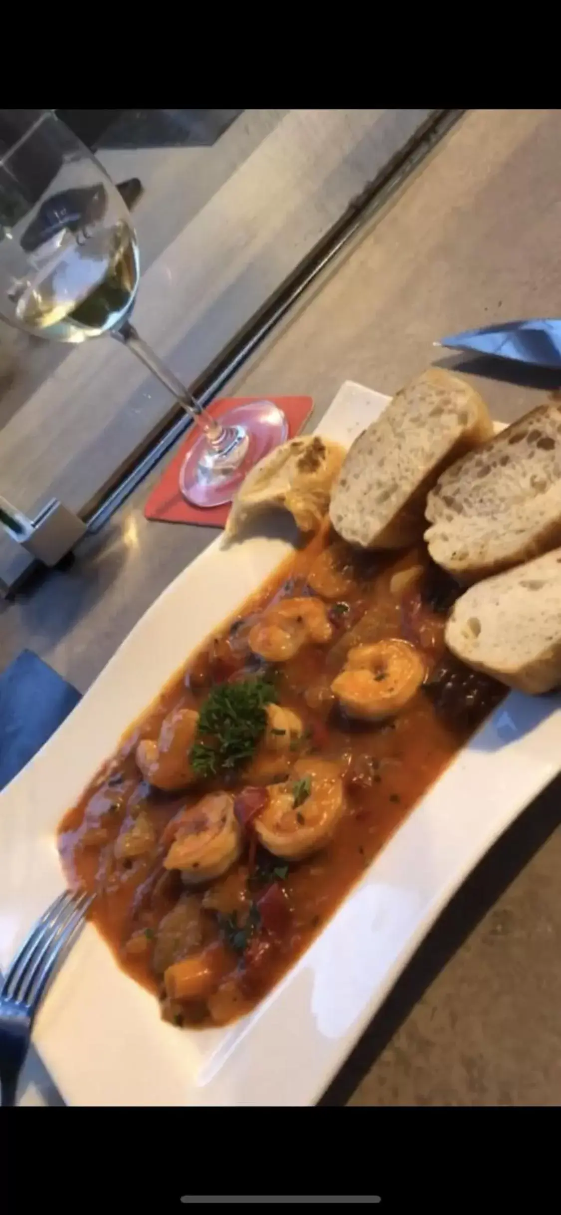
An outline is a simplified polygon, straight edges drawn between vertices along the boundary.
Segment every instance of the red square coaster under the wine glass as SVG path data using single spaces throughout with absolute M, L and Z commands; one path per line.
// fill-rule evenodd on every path
M 262 396 L 223 396 L 217 401 L 212 401 L 208 407 L 208 412 L 212 417 L 219 418 L 225 409 L 229 409 L 233 405 L 249 405 L 251 401 L 262 400 Z M 313 407 L 311 396 L 267 396 L 266 400 L 273 401 L 285 413 L 290 439 L 302 429 Z M 193 442 L 193 433 L 194 428 L 191 426 L 185 443 L 181 445 L 171 464 L 166 468 L 162 481 L 152 491 L 144 505 L 144 516 L 146 519 L 160 519 L 168 524 L 198 524 L 203 527 L 225 527 L 229 514 L 229 503 L 226 503 L 223 507 L 210 507 L 205 510 L 202 507 L 193 507 L 191 502 L 186 502 L 181 493 L 178 485 L 180 469 L 186 452 Z

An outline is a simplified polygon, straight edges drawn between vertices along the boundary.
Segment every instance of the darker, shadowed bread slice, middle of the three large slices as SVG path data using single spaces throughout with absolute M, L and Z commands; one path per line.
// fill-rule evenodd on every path
M 561 544 L 561 402 L 538 406 L 448 468 L 426 518 L 431 556 L 465 583 Z

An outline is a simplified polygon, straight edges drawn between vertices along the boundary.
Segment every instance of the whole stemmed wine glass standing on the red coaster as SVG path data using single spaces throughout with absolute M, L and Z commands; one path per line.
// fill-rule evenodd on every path
M 138 337 L 131 215 L 95 156 L 50 109 L 0 111 L 0 316 L 40 338 L 79 344 L 108 333 L 136 355 L 198 428 L 181 490 L 198 507 L 231 502 L 249 469 L 288 436 L 271 401 L 203 412 Z

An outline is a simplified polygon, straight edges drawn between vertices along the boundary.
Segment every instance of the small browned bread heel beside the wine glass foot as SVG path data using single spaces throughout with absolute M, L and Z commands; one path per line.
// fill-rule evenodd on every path
M 344 458 L 340 443 L 319 435 L 280 443 L 255 464 L 238 490 L 226 524 L 227 539 L 272 507 L 289 510 L 301 531 L 317 531 L 327 518 L 333 479 Z

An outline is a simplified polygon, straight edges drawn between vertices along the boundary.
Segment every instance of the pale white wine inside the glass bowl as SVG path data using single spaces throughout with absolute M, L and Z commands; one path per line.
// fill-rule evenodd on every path
M 138 287 L 138 248 L 126 222 L 69 233 L 34 277 L 18 284 L 16 317 L 22 328 L 56 341 L 86 341 L 119 327 Z M 41 256 L 39 250 L 38 261 Z

